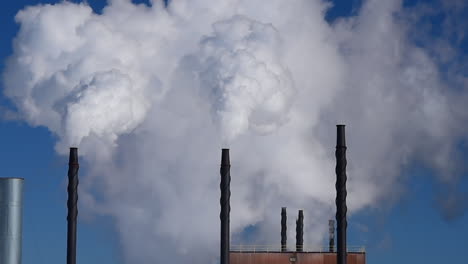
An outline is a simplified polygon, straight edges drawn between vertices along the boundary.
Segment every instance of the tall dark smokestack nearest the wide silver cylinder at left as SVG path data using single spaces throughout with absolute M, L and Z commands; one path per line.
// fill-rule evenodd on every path
M 70 148 L 68 163 L 67 264 L 76 264 L 76 217 L 78 216 L 78 149 Z

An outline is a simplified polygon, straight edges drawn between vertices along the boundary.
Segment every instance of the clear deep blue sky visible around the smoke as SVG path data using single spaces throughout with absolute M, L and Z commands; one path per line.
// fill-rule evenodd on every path
M 11 54 L 12 40 L 18 26 L 15 13 L 26 5 L 57 1 L 16 0 L 3 1 L 0 14 L 2 41 L 0 42 L 0 71 Z M 89 1 L 99 12 L 104 1 Z M 141 2 L 141 1 L 140 1 Z M 354 15 L 361 1 L 335 1 L 327 14 L 329 21 Z M 405 4 L 412 6 L 416 2 Z M 431 1 L 425 1 L 431 3 Z M 437 28 L 437 19 L 433 20 Z M 440 33 L 440 32 L 439 32 Z M 434 35 L 438 32 L 435 30 Z M 426 43 L 430 45 L 430 43 Z M 466 43 L 461 43 L 462 51 Z M 465 55 L 466 56 L 466 55 Z M 3 86 L 0 86 L 3 89 Z M 0 97 L 0 105 L 11 103 Z M 1 111 L 2 109 L 0 109 Z M 0 167 L 2 177 L 24 177 L 24 264 L 58 264 L 66 255 L 66 172 L 67 160 L 54 152 L 56 138 L 43 127 L 30 127 L 20 121 L 0 121 Z M 465 155 L 466 161 L 468 156 Z M 86 168 L 82 166 L 81 173 Z M 437 209 L 437 195 L 443 188 L 432 172 L 418 164 L 404 170 L 406 193 L 394 206 L 364 210 L 349 217 L 348 244 L 365 245 L 368 263 L 464 263 L 468 214 L 462 211 L 447 220 Z M 457 187 L 467 190 L 467 175 Z M 119 242 L 113 232 L 112 219 L 94 217 L 80 219 L 78 226 L 79 263 L 122 263 Z

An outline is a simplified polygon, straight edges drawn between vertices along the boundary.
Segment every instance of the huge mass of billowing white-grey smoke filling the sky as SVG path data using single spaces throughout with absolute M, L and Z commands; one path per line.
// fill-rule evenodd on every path
M 216 262 L 222 147 L 232 149 L 233 239 L 256 225 L 257 244 L 279 245 L 288 206 L 305 209 L 305 244 L 320 244 L 334 213 L 335 124 L 348 124 L 353 214 L 396 199 L 413 161 L 456 181 L 468 121 L 467 82 L 451 89 L 413 44 L 401 1 L 368 0 L 332 25 L 328 7 L 27 7 L 4 94 L 57 135 L 57 152 L 80 148 L 90 168 L 81 206 L 114 217 L 126 263 Z

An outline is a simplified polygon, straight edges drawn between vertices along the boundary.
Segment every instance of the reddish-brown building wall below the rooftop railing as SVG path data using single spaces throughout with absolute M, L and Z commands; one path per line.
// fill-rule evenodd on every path
M 229 260 L 230 264 L 336 264 L 336 253 L 230 252 Z M 348 264 L 365 263 L 365 253 L 348 253 Z

